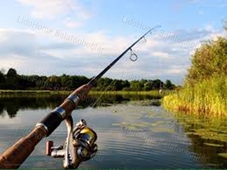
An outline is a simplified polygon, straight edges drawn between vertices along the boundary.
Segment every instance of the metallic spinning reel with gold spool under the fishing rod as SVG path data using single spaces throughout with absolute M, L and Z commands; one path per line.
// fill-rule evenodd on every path
M 66 118 L 67 138 L 65 145 L 54 147 L 53 141 L 46 142 L 46 155 L 63 158 L 65 169 L 77 168 L 83 161 L 95 156 L 98 146 L 96 132 L 87 126 L 85 120 L 80 120 L 73 128 L 72 116 Z

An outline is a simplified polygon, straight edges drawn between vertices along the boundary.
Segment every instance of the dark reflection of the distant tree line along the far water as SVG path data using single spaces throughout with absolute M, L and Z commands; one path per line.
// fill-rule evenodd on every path
M 67 95 L 8 95 L 0 96 L 0 115 L 6 111 L 10 118 L 14 118 L 19 110 L 25 109 L 53 109 L 61 104 Z M 85 101 L 80 103 L 80 108 L 86 108 L 88 106 L 109 106 L 112 104 L 118 104 L 122 102 L 134 101 L 134 100 L 151 100 L 157 99 L 157 97 L 149 95 L 90 95 Z M 151 105 L 160 105 L 160 101 L 151 102 Z

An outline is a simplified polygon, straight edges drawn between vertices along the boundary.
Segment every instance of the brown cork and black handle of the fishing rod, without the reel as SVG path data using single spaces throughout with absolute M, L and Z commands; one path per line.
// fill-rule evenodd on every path
M 31 133 L 21 138 L 0 155 L 0 169 L 18 168 L 32 153 L 35 146 L 49 136 L 76 108 L 79 100 L 85 99 L 92 86 L 83 85 L 73 91 L 55 110 L 45 116 Z

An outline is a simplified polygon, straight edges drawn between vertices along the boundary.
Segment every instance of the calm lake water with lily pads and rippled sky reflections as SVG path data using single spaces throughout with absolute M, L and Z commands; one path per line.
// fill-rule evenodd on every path
M 64 98 L 0 98 L 0 153 L 33 129 Z M 97 155 L 80 168 L 227 168 L 226 159 L 218 155 L 227 152 L 225 142 L 189 134 L 196 127 L 185 123 L 188 117 L 168 113 L 157 100 L 149 96 L 103 96 L 98 101 L 95 107 L 84 104 L 73 112 L 75 122 L 85 119 L 98 134 Z M 21 168 L 62 168 L 61 158 L 45 156 L 45 142 L 63 144 L 66 133 L 62 123 L 37 145 Z

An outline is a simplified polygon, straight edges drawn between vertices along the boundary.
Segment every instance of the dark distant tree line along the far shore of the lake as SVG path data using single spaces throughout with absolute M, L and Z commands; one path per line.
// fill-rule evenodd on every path
M 17 71 L 10 68 L 7 73 L 0 71 L 0 89 L 10 90 L 73 90 L 90 79 L 85 76 L 66 75 L 38 76 L 18 75 Z M 101 78 L 93 88 L 96 91 L 150 91 L 159 89 L 174 89 L 176 86 L 170 81 L 156 80 L 119 80 Z

